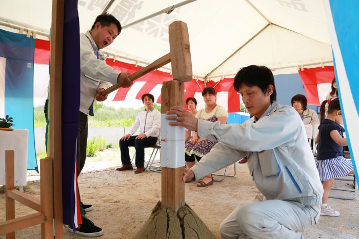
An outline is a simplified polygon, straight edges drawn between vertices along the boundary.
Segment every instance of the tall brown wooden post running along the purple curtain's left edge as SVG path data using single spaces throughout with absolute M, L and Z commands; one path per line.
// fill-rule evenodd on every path
M 63 238 L 62 194 L 62 71 L 64 0 L 52 1 L 49 94 L 49 149 L 53 158 L 55 237 Z

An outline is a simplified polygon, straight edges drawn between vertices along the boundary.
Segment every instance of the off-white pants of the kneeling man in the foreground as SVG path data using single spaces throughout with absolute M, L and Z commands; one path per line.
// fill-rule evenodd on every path
M 320 206 L 304 206 L 281 200 L 262 201 L 256 196 L 238 206 L 221 223 L 223 238 L 304 238 L 302 231 L 314 225 Z

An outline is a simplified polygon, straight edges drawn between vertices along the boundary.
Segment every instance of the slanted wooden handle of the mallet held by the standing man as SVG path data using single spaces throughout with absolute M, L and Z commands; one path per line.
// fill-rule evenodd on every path
M 134 81 L 135 79 L 138 79 L 139 77 L 149 73 L 150 71 L 153 71 L 155 69 L 163 67 L 164 65 L 166 65 L 170 62 L 171 62 L 171 56 L 170 56 L 170 53 L 168 53 L 168 54 L 162 56 L 161 58 L 156 59 L 156 61 L 152 62 L 150 65 L 131 74 L 130 79 L 131 79 L 131 81 Z M 117 90 L 118 88 L 119 88 L 118 84 L 114 84 L 113 86 L 104 90 L 102 92 L 102 95 L 107 95 L 107 94 L 111 93 L 112 91 Z

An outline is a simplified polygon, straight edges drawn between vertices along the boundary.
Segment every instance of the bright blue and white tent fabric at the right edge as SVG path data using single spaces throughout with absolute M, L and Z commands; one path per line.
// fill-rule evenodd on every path
M 359 1 L 323 0 L 348 146 L 358 178 L 359 164 Z M 356 163 L 355 163 L 356 162 Z

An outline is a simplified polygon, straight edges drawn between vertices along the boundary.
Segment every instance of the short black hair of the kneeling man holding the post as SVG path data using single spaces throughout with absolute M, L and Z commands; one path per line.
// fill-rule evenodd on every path
M 233 87 L 235 91 L 239 91 L 242 84 L 246 86 L 257 86 L 262 89 L 263 93 L 267 94 L 269 85 L 273 86 L 273 93 L 270 95 L 270 103 L 277 99 L 277 92 L 274 85 L 274 76 L 272 71 L 265 66 L 251 65 L 241 68 L 234 77 Z

